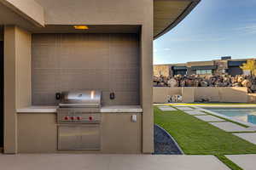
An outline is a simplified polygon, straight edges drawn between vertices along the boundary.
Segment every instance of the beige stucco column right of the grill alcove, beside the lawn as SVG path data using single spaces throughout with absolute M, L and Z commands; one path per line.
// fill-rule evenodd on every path
M 143 153 L 154 152 L 153 115 L 153 2 L 141 32 L 141 105 L 143 107 Z

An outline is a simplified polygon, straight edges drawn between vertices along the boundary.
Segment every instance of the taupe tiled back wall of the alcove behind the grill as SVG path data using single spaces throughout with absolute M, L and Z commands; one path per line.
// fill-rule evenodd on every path
M 102 90 L 104 105 L 138 105 L 138 46 L 137 34 L 32 35 L 32 105 L 57 105 L 55 93 L 73 89 Z

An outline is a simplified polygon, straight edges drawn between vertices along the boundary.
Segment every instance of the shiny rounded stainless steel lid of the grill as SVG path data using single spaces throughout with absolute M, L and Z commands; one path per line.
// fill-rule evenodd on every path
M 99 90 L 76 90 L 61 92 L 60 107 L 101 107 L 102 92 Z

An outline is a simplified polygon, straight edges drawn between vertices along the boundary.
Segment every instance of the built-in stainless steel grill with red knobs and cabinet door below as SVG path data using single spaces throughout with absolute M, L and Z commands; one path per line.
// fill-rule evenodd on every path
M 102 92 L 62 92 L 57 110 L 58 150 L 100 150 Z

